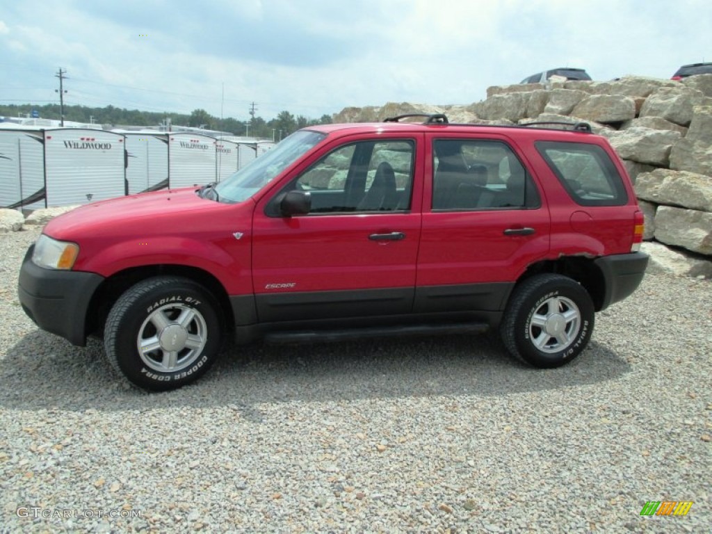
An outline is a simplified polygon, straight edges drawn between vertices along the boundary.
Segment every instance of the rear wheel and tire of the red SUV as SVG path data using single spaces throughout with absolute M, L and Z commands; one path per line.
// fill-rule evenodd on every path
M 515 357 L 534 367 L 560 367 L 585 349 L 594 318 L 591 297 L 580 283 L 543 274 L 515 288 L 500 331 Z

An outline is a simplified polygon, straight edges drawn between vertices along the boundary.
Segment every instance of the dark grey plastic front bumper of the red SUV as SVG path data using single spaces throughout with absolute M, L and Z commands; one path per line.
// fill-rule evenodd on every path
M 42 330 L 83 347 L 89 303 L 104 277 L 38 267 L 32 263 L 33 249 L 28 248 L 20 269 L 17 294 L 22 309 Z

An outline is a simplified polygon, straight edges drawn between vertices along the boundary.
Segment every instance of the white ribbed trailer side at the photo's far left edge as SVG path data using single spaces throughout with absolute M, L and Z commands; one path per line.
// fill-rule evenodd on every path
M 46 207 L 43 135 L 39 128 L 0 130 L 0 207 Z

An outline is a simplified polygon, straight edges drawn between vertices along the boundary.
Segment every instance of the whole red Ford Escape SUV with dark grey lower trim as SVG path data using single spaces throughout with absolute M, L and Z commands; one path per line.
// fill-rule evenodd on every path
M 44 330 L 103 336 L 133 384 L 172 389 L 239 342 L 499 328 L 570 362 L 648 261 L 626 171 L 588 125 L 320 125 L 229 179 L 53 219 L 19 298 Z

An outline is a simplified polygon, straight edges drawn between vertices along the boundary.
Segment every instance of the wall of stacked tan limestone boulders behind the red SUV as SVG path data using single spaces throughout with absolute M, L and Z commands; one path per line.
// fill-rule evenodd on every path
M 404 113 L 450 122 L 589 122 L 617 150 L 645 214 L 651 271 L 712 278 L 712 74 L 682 82 L 629 76 L 491 87 L 471 105 L 346 108 L 335 122 Z

